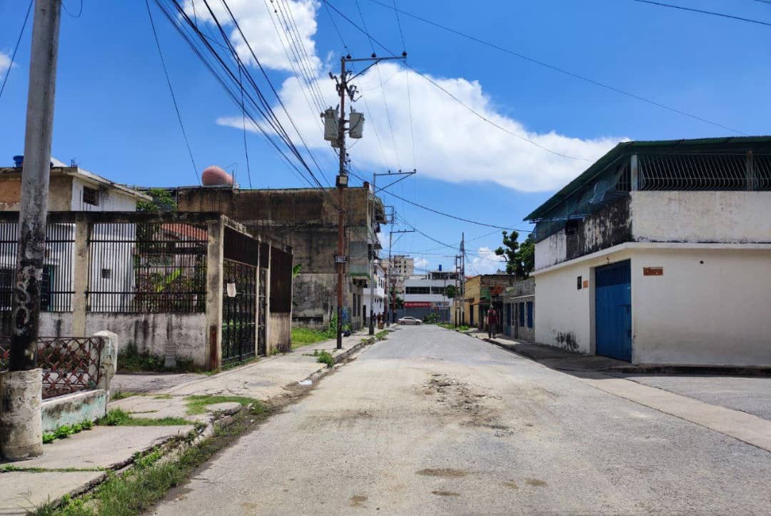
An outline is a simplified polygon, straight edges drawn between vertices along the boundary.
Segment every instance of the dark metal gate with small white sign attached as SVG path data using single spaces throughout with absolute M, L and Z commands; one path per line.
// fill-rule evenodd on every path
M 225 259 L 222 273 L 222 363 L 243 362 L 254 356 L 257 340 L 257 267 Z

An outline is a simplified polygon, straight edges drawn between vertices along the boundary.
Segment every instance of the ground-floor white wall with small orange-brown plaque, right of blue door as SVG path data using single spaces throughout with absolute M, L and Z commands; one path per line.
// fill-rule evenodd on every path
M 771 366 L 769 271 L 771 249 L 635 251 L 633 362 Z

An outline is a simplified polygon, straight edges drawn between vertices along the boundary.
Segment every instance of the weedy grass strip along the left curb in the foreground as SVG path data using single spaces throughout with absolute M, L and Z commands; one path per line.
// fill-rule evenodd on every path
M 160 450 L 137 457 L 134 467 L 123 475 L 109 472 L 107 481 L 86 496 L 72 499 L 63 497 L 58 507 L 53 502 L 42 505 L 34 514 L 40 516 L 133 516 L 153 508 L 167 492 L 182 484 L 187 477 L 217 451 L 234 442 L 242 433 L 267 417 L 267 410 L 259 405 L 251 416 L 237 419 L 214 436 L 184 450 L 174 460 L 160 461 Z

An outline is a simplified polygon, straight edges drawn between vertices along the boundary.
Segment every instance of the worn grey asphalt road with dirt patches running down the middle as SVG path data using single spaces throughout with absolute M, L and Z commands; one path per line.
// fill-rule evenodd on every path
M 404 327 L 157 514 L 767 514 L 771 453 L 436 326 Z

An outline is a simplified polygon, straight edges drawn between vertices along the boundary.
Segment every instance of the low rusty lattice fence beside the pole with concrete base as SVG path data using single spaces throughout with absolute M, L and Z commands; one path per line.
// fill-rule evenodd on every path
M 8 368 L 9 344 L 8 337 L 0 337 L 0 370 Z M 96 389 L 103 345 L 101 337 L 39 338 L 38 366 L 43 371 L 43 399 Z

